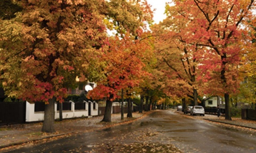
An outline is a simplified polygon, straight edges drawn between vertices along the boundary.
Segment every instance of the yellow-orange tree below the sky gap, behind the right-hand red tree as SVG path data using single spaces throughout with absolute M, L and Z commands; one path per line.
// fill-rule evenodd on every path
M 190 97 L 197 105 L 198 60 L 195 55 L 201 48 L 190 45 L 184 40 L 179 29 L 182 29 L 186 23 L 169 19 L 168 16 L 162 23 L 152 27 L 156 35 L 155 55 L 158 59 L 158 71 L 164 74 L 162 77 L 163 91 L 171 97 Z M 172 24 L 178 25 L 173 27 Z

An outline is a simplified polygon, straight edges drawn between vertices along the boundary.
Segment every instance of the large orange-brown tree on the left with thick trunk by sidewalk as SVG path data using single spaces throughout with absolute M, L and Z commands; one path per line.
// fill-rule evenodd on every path
M 106 36 L 103 1 L 12 1 L 22 11 L 2 19 L 1 79 L 6 94 L 43 101 L 43 132 L 54 132 L 54 103 L 86 71 Z

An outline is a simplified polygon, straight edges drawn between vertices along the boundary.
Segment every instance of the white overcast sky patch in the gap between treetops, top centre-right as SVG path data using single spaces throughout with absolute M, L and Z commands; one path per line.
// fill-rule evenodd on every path
M 171 2 L 171 0 L 147 0 L 150 5 L 152 5 L 152 10 L 156 8 L 154 13 L 154 21 L 155 23 L 159 23 L 159 21 L 163 21 L 165 19 L 165 3 Z

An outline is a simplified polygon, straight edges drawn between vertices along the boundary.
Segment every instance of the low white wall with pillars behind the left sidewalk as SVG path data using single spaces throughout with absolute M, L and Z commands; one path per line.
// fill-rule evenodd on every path
M 75 110 L 75 103 L 71 103 L 70 111 L 62 111 L 62 118 L 74 118 L 74 117 L 89 117 L 98 116 L 98 104 L 95 101 L 84 101 L 85 109 Z M 58 119 L 60 116 L 59 111 L 57 111 L 57 103 L 54 107 L 54 118 Z M 26 122 L 44 121 L 44 112 L 35 112 L 35 104 L 30 104 L 26 102 Z

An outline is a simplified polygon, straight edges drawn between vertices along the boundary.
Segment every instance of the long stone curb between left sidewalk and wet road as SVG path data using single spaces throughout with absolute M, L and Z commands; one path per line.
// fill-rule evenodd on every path
M 124 122 L 120 122 L 120 123 L 116 123 L 116 124 L 112 124 L 112 125 L 106 125 L 106 126 L 102 126 L 101 128 L 97 128 L 97 129 L 94 129 L 94 130 L 86 130 L 86 131 L 82 131 L 82 132 L 98 131 L 98 130 L 102 130 L 102 129 L 111 128 L 111 127 L 117 126 L 117 125 L 129 124 L 131 122 L 134 122 L 134 121 L 137 121 L 137 120 L 139 120 L 141 118 L 144 118 L 146 115 L 151 114 L 153 112 L 154 111 L 146 112 L 142 116 L 140 116 L 138 118 L 134 118 L 133 120 L 130 120 L 130 121 L 124 121 Z M 77 134 L 77 133 L 82 133 L 82 132 L 68 132 L 68 133 L 62 133 L 62 134 L 54 134 L 54 135 L 49 135 L 49 136 L 43 137 L 43 138 L 14 142 L 14 143 L 10 143 L 10 144 L 3 145 L 3 146 L 0 145 L 0 149 L 7 148 L 7 147 L 18 146 L 18 145 L 22 145 L 22 144 L 28 143 L 28 142 L 36 142 L 36 141 L 41 141 L 41 140 L 44 140 L 44 139 L 51 139 L 53 137 L 61 137 L 61 136 L 69 135 L 69 134 Z

